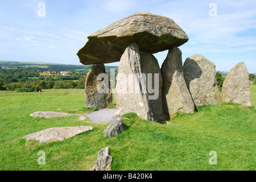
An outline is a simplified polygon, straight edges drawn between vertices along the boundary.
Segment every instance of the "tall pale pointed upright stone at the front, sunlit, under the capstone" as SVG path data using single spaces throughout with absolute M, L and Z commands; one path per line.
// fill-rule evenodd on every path
M 136 113 L 148 121 L 154 120 L 147 101 L 139 48 L 136 43 L 131 43 L 121 57 L 115 86 L 115 103 L 118 109 L 115 114 Z

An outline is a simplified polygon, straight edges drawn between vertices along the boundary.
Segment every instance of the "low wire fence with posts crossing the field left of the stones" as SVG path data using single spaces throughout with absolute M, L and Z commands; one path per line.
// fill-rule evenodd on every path
M 84 95 L 85 89 L 47 89 L 42 92 L 15 92 L 0 91 L 0 97 L 13 96 L 60 96 L 60 95 Z

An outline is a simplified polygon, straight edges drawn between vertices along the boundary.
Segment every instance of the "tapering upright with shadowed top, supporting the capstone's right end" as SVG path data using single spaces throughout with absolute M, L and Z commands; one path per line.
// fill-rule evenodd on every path
M 183 77 L 182 52 L 177 47 L 169 49 L 162 64 L 162 103 L 164 118 L 173 118 L 177 113 L 194 113 L 194 102 Z

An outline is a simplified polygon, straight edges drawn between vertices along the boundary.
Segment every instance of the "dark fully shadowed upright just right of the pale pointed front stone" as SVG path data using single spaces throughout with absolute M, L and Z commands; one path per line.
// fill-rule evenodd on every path
M 151 53 L 141 55 L 141 72 L 145 74 L 149 109 L 154 121 L 163 121 L 162 86 L 163 78 L 157 59 Z

